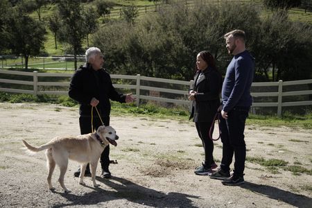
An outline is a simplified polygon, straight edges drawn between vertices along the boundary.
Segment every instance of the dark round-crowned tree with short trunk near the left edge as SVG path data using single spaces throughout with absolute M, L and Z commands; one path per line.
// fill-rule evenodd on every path
M 25 68 L 28 69 L 28 58 L 40 54 L 44 49 L 46 29 L 40 21 L 32 19 L 20 10 L 12 12 L 8 19 L 8 47 L 16 55 L 23 55 Z

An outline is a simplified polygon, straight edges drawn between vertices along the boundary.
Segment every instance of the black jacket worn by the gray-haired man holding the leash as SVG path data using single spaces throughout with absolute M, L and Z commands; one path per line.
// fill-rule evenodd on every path
M 110 99 L 125 103 L 125 95 L 116 92 L 110 74 L 105 69 L 95 71 L 90 64 L 80 66 L 73 74 L 69 85 L 69 97 L 80 103 L 80 116 L 91 116 L 92 98 L 98 99 L 96 107 L 101 116 L 110 116 Z M 95 109 L 94 116 L 98 117 Z

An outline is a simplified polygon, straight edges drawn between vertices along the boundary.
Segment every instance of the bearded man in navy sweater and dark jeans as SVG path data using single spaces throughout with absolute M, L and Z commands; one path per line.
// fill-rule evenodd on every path
M 244 140 L 245 121 L 248 117 L 252 96 L 250 88 L 254 75 L 254 58 L 245 49 L 245 32 L 234 30 L 224 35 L 229 54 L 234 55 L 227 67 L 222 87 L 220 119 L 223 156 L 220 168 L 211 178 L 223 180 L 224 185 L 244 183 L 246 145 Z M 234 173 L 229 174 L 229 165 L 235 157 Z

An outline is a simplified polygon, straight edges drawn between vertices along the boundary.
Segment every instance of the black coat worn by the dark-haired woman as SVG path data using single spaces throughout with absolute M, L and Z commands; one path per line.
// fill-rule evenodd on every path
M 190 119 L 194 122 L 212 122 L 220 106 L 222 76 L 218 71 L 208 67 L 197 81 L 200 71 L 194 76 L 193 90 L 197 92 Z M 196 84 L 197 83 L 197 84 Z

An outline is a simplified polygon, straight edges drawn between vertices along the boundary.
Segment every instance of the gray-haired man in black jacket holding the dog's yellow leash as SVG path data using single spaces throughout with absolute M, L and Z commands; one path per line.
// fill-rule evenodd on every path
M 110 125 L 110 100 L 119 101 L 120 103 L 130 103 L 135 100 L 131 94 L 119 94 L 112 85 L 110 74 L 103 69 L 103 53 L 96 47 L 91 47 L 85 52 L 86 63 L 80 66 L 73 74 L 69 85 L 69 97 L 80 103 L 79 107 L 79 124 L 81 135 L 92 132 L 93 128 L 97 129 L 102 125 Z M 92 107 L 96 110 L 92 113 Z M 110 165 L 110 146 L 107 146 L 101 155 L 102 174 L 101 177 L 111 177 L 109 170 Z M 89 164 L 85 175 L 90 175 Z M 74 173 L 76 177 L 80 175 L 80 169 Z

